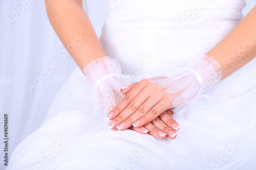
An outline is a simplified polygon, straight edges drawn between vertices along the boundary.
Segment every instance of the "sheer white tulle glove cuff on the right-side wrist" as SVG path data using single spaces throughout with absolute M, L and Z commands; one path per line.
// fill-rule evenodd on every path
M 164 93 L 172 102 L 173 109 L 170 110 L 175 116 L 182 116 L 199 95 L 221 81 L 221 76 L 218 61 L 214 57 L 204 56 L 184 68 L 176 68 L 167 73 L 166 78 L 149 81 L 159 89 L 165 89 Z

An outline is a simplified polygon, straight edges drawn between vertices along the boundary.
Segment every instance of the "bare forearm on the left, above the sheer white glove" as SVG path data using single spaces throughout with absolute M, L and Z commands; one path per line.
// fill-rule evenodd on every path
M 45 0 L 48 17 L 72 58 L 82 70 L 88 63 L 106 56 L 81 0 Z

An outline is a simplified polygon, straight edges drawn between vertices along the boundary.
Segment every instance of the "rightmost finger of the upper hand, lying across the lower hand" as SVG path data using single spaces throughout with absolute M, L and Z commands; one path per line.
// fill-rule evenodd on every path
M 167 110 L 168 106 L 166 105 L 169 99 L 164 98 L 162 99 L 158 104 L 156 104 L 150 111 L 148 111 L 144 116 L 142 116 L 141 118 L 139 118 L 138 120 L 136 120 L 136 122 L 134 122 L 134 126 L 135 127 L 141 127 L 145 124 L 147 124 L 148 122 L 151 122 L 152 120 L 154 120 L 156 117 L 158 117 L 160 114 L 162 114 L 165 110 Z

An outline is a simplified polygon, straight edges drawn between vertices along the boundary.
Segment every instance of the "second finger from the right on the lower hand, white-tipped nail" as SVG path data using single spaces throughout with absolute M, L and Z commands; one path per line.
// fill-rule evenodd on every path
M 165 123 L 163 123 L 162 120 L 160 120 L 159 117 L 155 118 L 152 120 L 152 125 L 154 125 L 156 128 L 160 129 L 164 133 L 167 134 L 167 137 L 169 139 L 175 139 L 177 136 L 177 133 L 170 127 L 168 127 Z

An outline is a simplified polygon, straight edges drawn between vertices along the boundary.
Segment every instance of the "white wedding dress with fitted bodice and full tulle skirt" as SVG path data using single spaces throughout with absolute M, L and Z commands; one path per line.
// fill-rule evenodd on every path
M 124 74 L 161 76 L 214 47 L 244 6 L 243 0 L 111 0 L 100 41 Z M 176 139 L 160 140 L 107 128 L 93 87 L 76 68 L 7 169 L 256 169 L 255 72 L 253 59 L 175 117 Z

